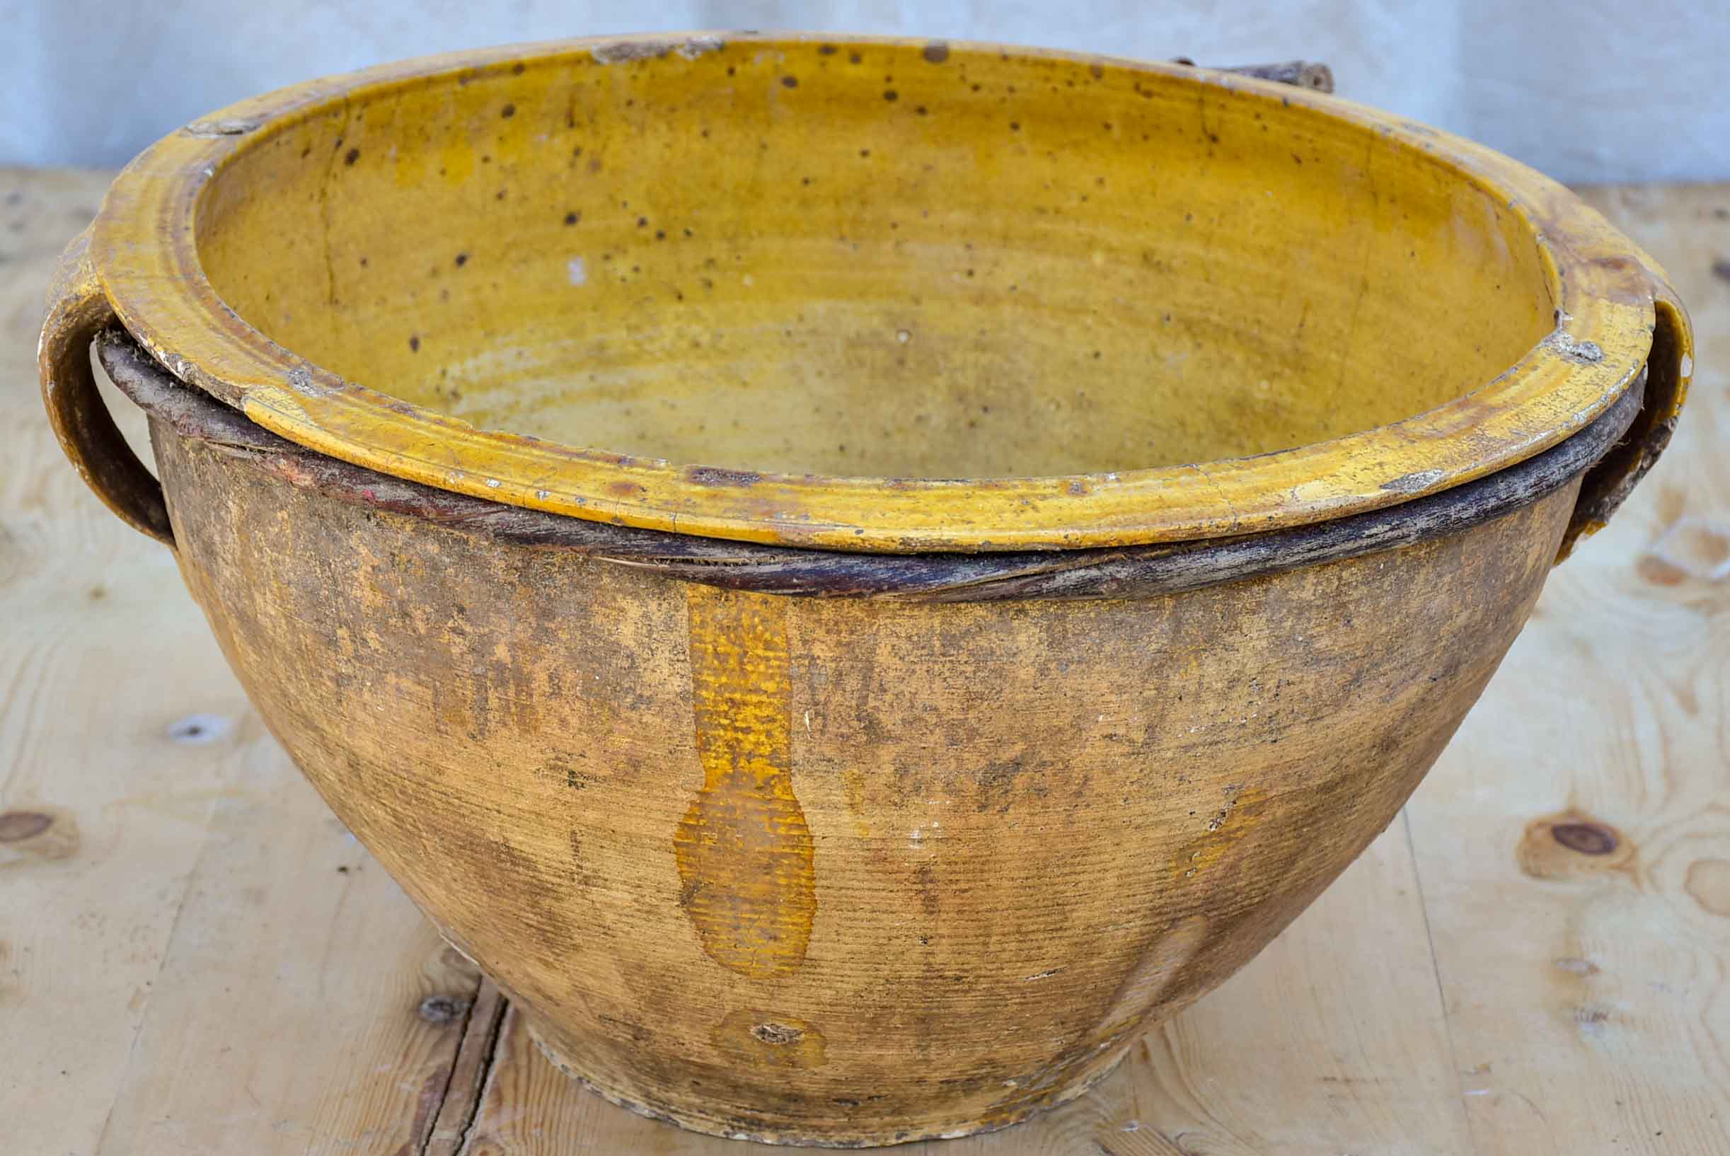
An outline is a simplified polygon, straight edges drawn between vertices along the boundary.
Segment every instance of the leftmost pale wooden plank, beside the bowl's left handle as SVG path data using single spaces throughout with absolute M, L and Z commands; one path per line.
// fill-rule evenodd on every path
M 83 491 L 35 396 L 52 249 L 107 180 L 0 171 L 0 813 L 54 817 L 31 848 L 59 836 L 48 857 L 0 845 L 0 1120 L 19 1153 L 95 1149 L 208 817 L 258 732 L 173 559 Z M 228 734 L 175 742 L 194 713 Z

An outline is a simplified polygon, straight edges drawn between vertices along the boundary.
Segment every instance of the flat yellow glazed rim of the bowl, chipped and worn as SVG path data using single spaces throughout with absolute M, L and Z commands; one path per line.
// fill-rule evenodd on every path
M 927 52 L 932 45 L 946 52 Z M 1299 109 L 1427 154 L 1510 206 L 1540 249 L 1555 329 L 1436 408 L 1329 441 L 1182 466 L 1040 478 L 773 474 L 670 464 L 477 429 L 346 381 L 277 344 L 218 296 L 195 223 L 215 175 L 270 132 L 344 100 L 516 66 L 619 66 L 725 52 L 887 47 L 1161 74 Z M 711 538 L 882 554 L 1121 547 L 1301 526 L 1483 478 L 1588 426 L 1645 365 L 1664 275 L 1573 192 L 1484 145 L 1306 88 L 1183 64 L 1048 48 L 822 33 L 671 33 L 503 45 L 313 80 L 240 100 L 145 149 L 97 215 L 90 260 L 121 324 L 178 379 L 260 426 L 356 466 L 474 497 Z

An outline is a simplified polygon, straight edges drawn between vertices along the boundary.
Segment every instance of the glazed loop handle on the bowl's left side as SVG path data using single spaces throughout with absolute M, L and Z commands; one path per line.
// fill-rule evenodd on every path
M 133 530 L 173 547 L 163 485 L 121 436 L 97 393 L 90 343 L 114 324 L 114 308 L 90 265 L 90 230 L 61 254 L 48 284 L 48 313 L 36 344 L 36 372 L 48 424 L 78 476 Z

